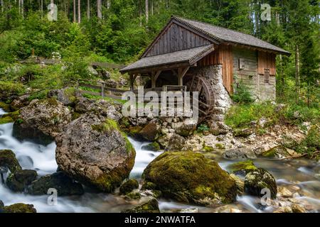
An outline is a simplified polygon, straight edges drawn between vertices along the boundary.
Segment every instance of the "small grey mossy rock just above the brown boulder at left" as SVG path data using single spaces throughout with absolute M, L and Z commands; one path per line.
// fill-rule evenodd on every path
M 64 89 L 54 89 L 48 92 L 48 98 L 55 98 L 65 106 L 75 106 L 75 101 L 78 97 L 82 96 L 78 90 L 67 87 Z

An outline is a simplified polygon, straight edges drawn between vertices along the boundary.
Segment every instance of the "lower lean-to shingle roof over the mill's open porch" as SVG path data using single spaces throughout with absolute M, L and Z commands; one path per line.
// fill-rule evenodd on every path
M 173 65 L 177 63 L 186 63 L 186 65 L 193 65 L 202 57 L 214 50 L 214 45 L 203 45 L 198 48 L 191 48 L 188 50 L 180 50 L 176 52 L 169 52 L 164 55 L 155 55 L 151 57 L 143 57 L 134 62 L 132 65 L 124 67 L 120 72 L 128 72 L 132 70 L 139 70 L 148 67 L 159 67 L 161 65 Z

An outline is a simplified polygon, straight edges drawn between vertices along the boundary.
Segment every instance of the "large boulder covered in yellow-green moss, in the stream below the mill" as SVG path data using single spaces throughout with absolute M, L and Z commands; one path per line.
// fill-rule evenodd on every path
M 163 153 L 146 167 L 142 177 L 164 197 L 186 203 L 230 203 L 237 194 L 235 180 L 228 172 L 200 153 Z

